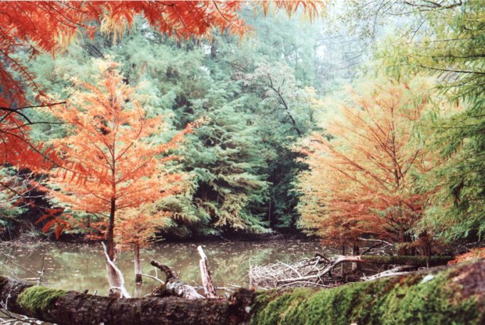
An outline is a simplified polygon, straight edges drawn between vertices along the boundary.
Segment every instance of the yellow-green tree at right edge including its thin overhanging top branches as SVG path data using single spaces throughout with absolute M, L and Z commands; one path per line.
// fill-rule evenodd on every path
M 464 108 L 436 115 L 432 125 L 429 146 L 439 151 L 441 163 L 424 180 L 424 190 L 434 194 L 422 227 L 446 240 L 481 238 L 485 234 L 483 1 L 352 2 L 350 20 L 366 22 L 364 31 L 388 26 L 392 20 L 399 24 L 397 34 L 376 46 L 379 68 L 394 78 L 409 73 L 438 78 L 436 89 L 446 94 L 449 103 Z

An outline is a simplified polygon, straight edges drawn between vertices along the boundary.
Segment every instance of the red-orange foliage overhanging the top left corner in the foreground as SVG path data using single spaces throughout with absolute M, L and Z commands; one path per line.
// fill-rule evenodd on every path
M 269 1 L 257 1 L 265 12 Z M 272 1 L 276 8 L 291 14 L 299 6 L 312 17 L 323 9 L 323 1 Z M 0 1 L 0 163 L 45 168 L 56 159 L 41 153 L 29 140 L 29 124 L 24 109 L 27 88 L 43 98 L 25 63 L 13 54 L 24 50 L 31 57 L 41 51 L 56 53 L 83 29 L 93 36 L 98 23 L 119 32 L 137 14 L 162 33 L 178 38 L 202 36 L 213 28 L 229 29 L 242 36 L 247 27 L 238 17 L 243 1 Z M 41 105 L 48 104 L 48 100 Z

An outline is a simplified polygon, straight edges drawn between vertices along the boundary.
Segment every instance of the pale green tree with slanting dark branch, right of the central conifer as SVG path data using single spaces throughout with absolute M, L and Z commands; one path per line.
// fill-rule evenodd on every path
M 272 183 L 268 220 L 272 227 L 293 229 L 299 198 L 292 180 L 305 164 L 298 161 L 292 145 L 315 128 L 313 113 L 320 104 L 314 89 L 303 88 L 285 63 L 256 63 L 255 70 L 245 75 L 245 85 L 255 100 L 254 113 L 262 117 L 257 122 L 262 141 L 274 150 L 275 157 L 268 161 Z

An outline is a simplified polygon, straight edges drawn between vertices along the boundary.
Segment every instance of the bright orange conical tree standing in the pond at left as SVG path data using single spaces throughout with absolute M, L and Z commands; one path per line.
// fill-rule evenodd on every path
M 91 232 L 106 241 L 111 261 L 117 213 L 180 191 L 183 175 L 171 172 L 168 163 L 177 157 L 169 152 L 193 128 L 189 124 L 166 143 L 150 140 L 150 135 L 163 132 L 162 118 L 146 118 L 116 67 L 101 61 L 96 84 L 80 83 L 85 91 L 76 92 L 65 108 L 52 111 L 70 130 L 51 141 L 62 166 L 49 180 L 53 200 L 96 216 Z

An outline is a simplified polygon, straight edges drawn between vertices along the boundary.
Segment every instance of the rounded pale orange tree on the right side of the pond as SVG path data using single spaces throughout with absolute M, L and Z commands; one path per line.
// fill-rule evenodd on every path
M 301 223 L 330 244 L 354 244 L 364 234 L 409 242 L 426 199 L 415 179 L 434 165 L 413 136 L 432 108 L 430 88 L 421 78 L 362 86 L 327 120 L 331 140 L 318 133 L 306 140 Z

